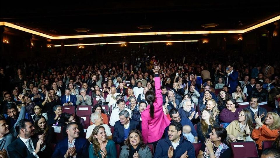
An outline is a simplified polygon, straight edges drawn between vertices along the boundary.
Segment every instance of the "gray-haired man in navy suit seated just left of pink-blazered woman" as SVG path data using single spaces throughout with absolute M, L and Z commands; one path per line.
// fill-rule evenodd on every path
M 119 113 L 120 120 L 115 123 L 113 140 L 121 146 L 126 144 L 130 130 L 137 129 L 139 122 L 129 119 L 129 112 L 122 110 Z

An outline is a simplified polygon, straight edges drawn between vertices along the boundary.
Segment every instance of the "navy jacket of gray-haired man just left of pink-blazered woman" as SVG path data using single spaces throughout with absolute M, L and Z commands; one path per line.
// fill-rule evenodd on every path
M 137 129 L 139 126 L 139 122 L 133 119 L 129 119 L 129 129 Z M 115 123 L 114 133 L 113 133 L 113 140 L 116 144 L 120 144 L 121 146 L 124 144 L 125 140 L 123 139 L 125 136 L 125 126 L 123 126 L 120 121 Z

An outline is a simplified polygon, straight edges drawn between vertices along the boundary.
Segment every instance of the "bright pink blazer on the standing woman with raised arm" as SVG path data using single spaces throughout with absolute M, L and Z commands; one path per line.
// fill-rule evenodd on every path
M 164 133 L 164 129 L 169 126 L 170 121 L 163 113 L 162 95 L 160 89 L 160 78 L 155 77 L 155 102 L 154 119 L 150 117 L 150 105 L 141 113 L 142 118 L 142 136 L 144 143 L 151 143 L 160 140 Z

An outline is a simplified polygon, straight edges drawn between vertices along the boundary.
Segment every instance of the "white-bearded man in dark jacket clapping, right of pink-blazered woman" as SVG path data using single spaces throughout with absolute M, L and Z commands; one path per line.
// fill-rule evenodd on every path
M 192 102 L 190 100 L 183 100 L 182 105 L 178 110 L 182 118 L 188 118 L 190 120 L 198 118 L 198 112 L 195 113 L 195 108 L 192 108 Z

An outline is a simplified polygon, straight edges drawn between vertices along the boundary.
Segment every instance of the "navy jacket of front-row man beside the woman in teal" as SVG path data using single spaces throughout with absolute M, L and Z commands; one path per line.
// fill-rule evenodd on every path
M 89 157 L 88 155 L 88 147 L 89 142 L 85 138 L 76 138 L 75 140 L 75 148 L 77 156 L 76 158 L 84 158 Z M 64 158 L 64 154 L 68 150 L 68 137 L 61 140 L 59 143 L 55 146 L 55 151 L 53 152 L 53 158 Z

